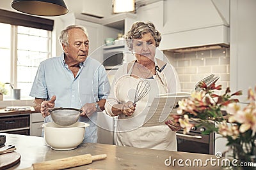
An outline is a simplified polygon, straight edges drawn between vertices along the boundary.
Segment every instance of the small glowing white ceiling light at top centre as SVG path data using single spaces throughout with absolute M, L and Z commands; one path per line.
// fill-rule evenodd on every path
M 113 13 L 135 11 L 135 0 L 113 0 Z

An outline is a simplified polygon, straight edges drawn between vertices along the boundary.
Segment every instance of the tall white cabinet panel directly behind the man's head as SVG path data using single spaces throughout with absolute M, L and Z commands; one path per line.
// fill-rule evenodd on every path
M 102 57 L 102 51 L 97 52 L 95 50 L 99 48 L 102 44 L 102 25 L 100 24 L 95 24 L 92 22 L 87 22 L 84 20 L 76 20 L 77 25 L 83 25 L 86 27 L 88 35 L 89 35 L 89 40 L 90 40 L 90 46 L 89 46 L 89 55 L 92 55 L 94 59 L 98 60 L 99 62 L 102 62 L 103 57 Z

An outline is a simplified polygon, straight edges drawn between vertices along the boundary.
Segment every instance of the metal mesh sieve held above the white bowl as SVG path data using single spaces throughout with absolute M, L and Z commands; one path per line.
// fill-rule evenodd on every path
M 49 110 L 52 120 L 61 126 L 75 124 L 82 112 L 82 110 L 76 108 L 53 108 Z

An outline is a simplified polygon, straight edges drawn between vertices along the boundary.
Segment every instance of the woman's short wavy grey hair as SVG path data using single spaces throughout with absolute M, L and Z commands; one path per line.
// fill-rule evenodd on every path
M 129 50 L 132 50 L 132 39 L 142 38 L 143 34 L 147 33 L 151 33 L 156 41 L 156 47 L 159 46 L 162 37 L 155 25 L 152 22 L 137 21 L 132 24 L 131 29 L 124 35 Z

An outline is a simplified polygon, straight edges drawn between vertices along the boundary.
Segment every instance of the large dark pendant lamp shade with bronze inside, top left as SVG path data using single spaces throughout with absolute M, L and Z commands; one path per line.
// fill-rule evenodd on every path
M 40 16 L 59 16 L 68 13 L 63 0 L 13 0 L 12 8 L 20 12 Z

